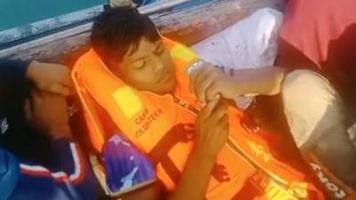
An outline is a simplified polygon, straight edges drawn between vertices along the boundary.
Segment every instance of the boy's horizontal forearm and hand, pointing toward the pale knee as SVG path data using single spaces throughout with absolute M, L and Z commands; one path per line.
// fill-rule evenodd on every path
M 222 96 L 234 99 L 239 95 L 275 95 L 280 92 L 286 70 L 279 67 L 249 68 L 233 70 L 231 75 L 206 64 L 190 76 L 190 87 L 202 102 L 216 100 Z

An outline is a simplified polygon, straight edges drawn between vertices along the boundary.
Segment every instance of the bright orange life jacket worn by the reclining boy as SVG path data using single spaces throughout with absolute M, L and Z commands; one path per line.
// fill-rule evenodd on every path
M 93 147 L 101 152 L 105 141 L 101 114 L 93 106 L 97 104 L 156 162 L 158 179 L 172 190 L 190 155 L 190 126 L 201 105 L 189 92 L 186 75 L 187 67 L 198 56 L 182 44 L 166 38 L 164 42 L 176 66 L 175 96 L 136 91 L 111 74 L 93 50 L 77 60 L 72 77 Z M 318 189 L 303 180 L 303 173 L 273 158 L 267 143 L 243 128 L 239 123 L 243 114 L 238 109 L 229 108 L 229 116 L 230 140 L 217 156 L 206 199 L 324 199 Z

